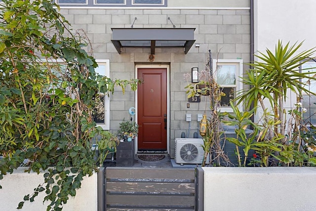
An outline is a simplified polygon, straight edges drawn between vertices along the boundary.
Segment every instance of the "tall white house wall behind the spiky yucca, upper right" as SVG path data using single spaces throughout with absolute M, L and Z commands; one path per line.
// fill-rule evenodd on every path
M 300 51 L 315 47 L 315 7 L 316 0 L 254 0 L 255 54 L 274 50 L 278 40 L 284 45 L 304 41 Z M 295 103 L 296 95 L 288 91 L 284 108 L 290 110 Z M 260 117 L 258 114 L 256 120 Z

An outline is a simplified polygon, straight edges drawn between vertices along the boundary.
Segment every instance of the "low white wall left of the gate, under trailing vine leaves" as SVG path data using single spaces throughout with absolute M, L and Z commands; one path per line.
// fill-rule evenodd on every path
M 43 182 L 43 173 L 25 173 L 25 168 L 19 168 L 12 174 L 4 175 L 0 180 L 0 210 L 14 211 L 23 197 L 32 194 L 33 190 Z M 48 203 L 43 205 L 44 191 L 39 193 L 35 201 L 25 202 L 23 211 L 45 211 Z M 84 177 L 76 197 L 70 197 L 63 211 L 97 211 L 97 173 Z

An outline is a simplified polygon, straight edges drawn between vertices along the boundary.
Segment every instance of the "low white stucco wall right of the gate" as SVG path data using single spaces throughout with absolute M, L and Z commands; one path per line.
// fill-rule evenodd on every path
M 316 211 L 315 167 L 202 169 L 204 211 Z

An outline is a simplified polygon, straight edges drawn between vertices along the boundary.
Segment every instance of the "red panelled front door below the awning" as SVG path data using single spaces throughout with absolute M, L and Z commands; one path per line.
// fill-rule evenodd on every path
M 167 70 L 138 68 L 138 149 L 167 149 Z

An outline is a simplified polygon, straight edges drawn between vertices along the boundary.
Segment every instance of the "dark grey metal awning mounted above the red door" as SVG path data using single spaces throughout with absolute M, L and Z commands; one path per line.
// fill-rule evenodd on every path
M 187 54 L 195 42 L 195 28 L 111 28 L 112 42 L 118 53 L 122 47 L 150 47 L 155 54 L 156 47 L 184 47 Z

